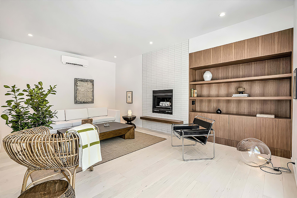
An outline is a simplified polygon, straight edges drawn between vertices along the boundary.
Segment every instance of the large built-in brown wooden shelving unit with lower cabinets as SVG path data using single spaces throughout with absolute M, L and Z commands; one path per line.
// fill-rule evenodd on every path
M 236 147 L 254 137 L 266 143 L 272 155 L 290 158 L 292 53 L 293 28 L 190 53 L 189 123 L 196 115 L 214 119 L 216 143 Z M 206 71 L 212 80 L 203 80 Z M 250 97 L 231 97 L 239 87 Z M 197 97 L 191 97 L 191 88 Z M 222 114 L 215 113 L 218 107 Z

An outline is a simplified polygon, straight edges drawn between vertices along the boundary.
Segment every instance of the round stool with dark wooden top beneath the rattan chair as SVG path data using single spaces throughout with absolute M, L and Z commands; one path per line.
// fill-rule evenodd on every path
M 66 180 L 50 180 L 33 186 L 18 198 L 75 198 L 72 186 Z

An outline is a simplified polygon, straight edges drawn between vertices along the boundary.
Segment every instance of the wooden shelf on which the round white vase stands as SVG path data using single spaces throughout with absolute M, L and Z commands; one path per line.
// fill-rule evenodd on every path
M 277 80 L 277 79 L 289 79 L 291 77 L 292 77 L 292 74 L 279 74 L 279 75 L 269 75 L 269 76 L 254 76 L 254 77 L 244 77 L 244 78 L 223 79 L 223 80 L 198 81 L 198 82 L 190 82 L 190 85 L 237 83 L 237 82 L 260 81 L 260 80 Z

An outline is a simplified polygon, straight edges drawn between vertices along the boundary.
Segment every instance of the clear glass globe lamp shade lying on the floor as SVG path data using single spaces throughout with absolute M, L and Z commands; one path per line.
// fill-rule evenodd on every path
M 240 151 L 241 160 L 249 166 L 259 167 L 271 161 L 271 151 L 261 140 L 246 138 L 237 144 L 236 149 Z

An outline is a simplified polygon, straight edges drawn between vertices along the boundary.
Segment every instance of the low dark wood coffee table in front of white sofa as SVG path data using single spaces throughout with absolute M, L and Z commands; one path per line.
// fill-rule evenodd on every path
M 127 139 L 134 139 L 134 126 L 122 124 L 119 122 L 108 122 L 110 126 L 103 126 L 105 123 L 94 124 L 99 128 L 99 139 L 104 140 L 110 137 L 121 137 L 125 140 Z M 73 127 L 71 127 L 73 128 Z M 57 134 L 65 133 L 68 129 L 58 129 Z

